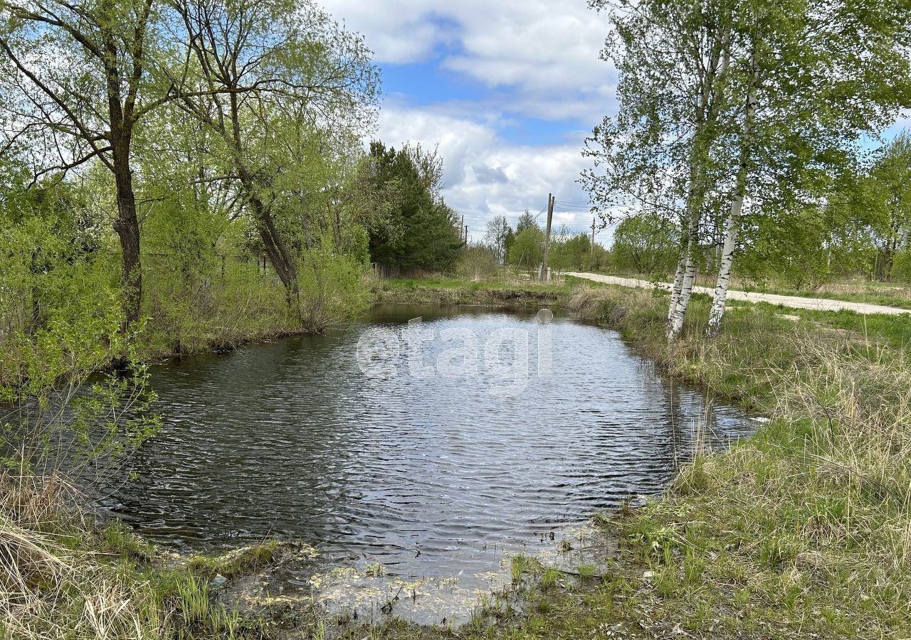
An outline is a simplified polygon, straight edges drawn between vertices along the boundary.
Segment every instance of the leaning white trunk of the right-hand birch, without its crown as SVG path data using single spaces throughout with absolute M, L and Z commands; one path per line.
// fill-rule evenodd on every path
M 754 60 L 751 62 L 754 63 Z M 755 65 L 753 64 L 753 68 Z M 718 282 L 712 293 L 711 311 L 709 311 L 709 325 L 705 335 L 714 338 L 722 329 L 725 302 L 728 298 L 728 287 L 731 284 L 731 268 L 734 261 L 734 249 L 737 247 L 737 232 L 740 229 L 740 214 L 743 208 L 743 198 L 746 196 L 746 178 L 750 162 L 752 145 L 750 141 L 752 122 L 756 112 L 755 96 L 755 71 L 753 72 L 753 85 L 746 97 L 746 112 L 743 116 L 741 133 L 740 167 L 737 168 L 737 182 L 731 199 L 731 211 L 724 233 L 724 249 L 722 249 L 722 263 L 718 268 Z

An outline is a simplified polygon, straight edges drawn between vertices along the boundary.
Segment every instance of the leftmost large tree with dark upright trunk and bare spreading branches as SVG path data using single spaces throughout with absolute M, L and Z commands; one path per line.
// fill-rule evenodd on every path
M 28 157 L 36 179 L 96 159 L 110 171 L 127 324 L 138 319 L 142 295 L 133 138 L 162 101 L 148 77 L 158 46 L 154 2 L 0 0 L 5 152 Z

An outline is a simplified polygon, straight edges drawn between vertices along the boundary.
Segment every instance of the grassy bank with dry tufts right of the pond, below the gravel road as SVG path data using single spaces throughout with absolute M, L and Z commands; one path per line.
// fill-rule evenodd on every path
M 697 297 L 669 345 L 666 303 L 612 287 L 568 300 L 670 375 L 771 421 L 729 452 L 701 452 L 660 500 L 601 519 L 621 554 L 600 581 L 555 590 L 546 569 L 530 571 L 525 614 L 498 610 L 457 633 L 390 623 L 374 637 L 911 635 L 904 319 L 743 305 L 710 341 Z

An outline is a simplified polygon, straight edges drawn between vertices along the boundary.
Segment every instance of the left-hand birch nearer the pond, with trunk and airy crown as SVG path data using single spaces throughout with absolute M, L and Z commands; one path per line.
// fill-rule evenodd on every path
M 609 0 L 593 0 L 601 10 Z M 595 167 L 583 173 L 589 198 L 611 211 L 653 211 L 681 228 L 681 254 L 671 289 L 668 336 L 688 308 L 707 198 L 727 167 L 713 154 L 728 102 L 732 6 L 722 0 L 621 3 L 602 58 L 619 71 L 619 113 L 586 141 Z M 723 147 L 721 147 L 723 148 Z

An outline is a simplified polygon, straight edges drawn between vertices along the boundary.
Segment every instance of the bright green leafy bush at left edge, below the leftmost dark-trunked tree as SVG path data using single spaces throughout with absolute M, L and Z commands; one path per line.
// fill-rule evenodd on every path
M 123 333 L 117 269 L 67 185 L 0 208 L 0 423 L 4 462 L 97 474 L 157 432 L 148 372 Z M 138 328 L 138 329 L 141 329 Z M 112 361 L 123 371 L 91 379 Z

